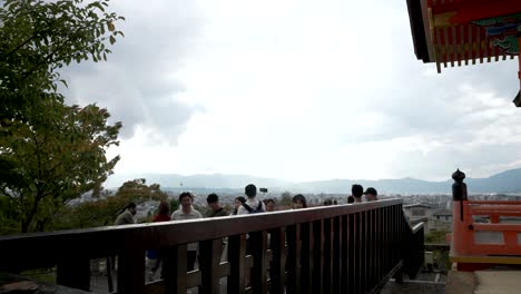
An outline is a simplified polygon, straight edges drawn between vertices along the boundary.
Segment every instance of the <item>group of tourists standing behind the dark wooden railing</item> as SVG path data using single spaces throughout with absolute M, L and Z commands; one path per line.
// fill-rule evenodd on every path
M 362 203 L 362 196 L 365 195 L 366 202 L 377 200 L 377 192 L 375 188 L 370 187 L 365 192 L 362 185 L 354 184 L 352 186 L 352 195 L 347 197 L 347 204 Z M 258 200 L 257 187 L 249 184 L 244 189 L 245 197 L 239 196 L 235 198 L 234 209 L 230 215 L 246 215 L 256 214 L 264 212 L 276 210 L 276 203 L 274 199 Z M 169 214 L 169 205 L 166 202 L 160 202 L 158 214 L 154 217 L 154 222 L 169 222 L 169 220 L 187 220 L 203 218 L 203 214 L 194 208 L 194 194 L 184 192 L 179 194 L 179 208 L 171 215 Z M 220 217 L 228 216 L 228 213 L 219 204 L 219 197 L 217 194 L 212 193 L 207 196 L 206 202 L 209 210 L 206 217 Z M 325 203 L 331 205 L 332 203 Z M 292 209 L 307 208 L 306 197 L 302 194 L 297 194 L 292 198 Z M 134 224 L 134 216 L 136 215 L 136 204 L 130 203 L 125 207 L 125 210 L 117 217 L 115 225 Z M 194 271 L 195 262 L 197 259 L 197 244 L 191 243 L 187 245 L 187 270 Z M 153 280 L 155 273 L 160 266 L 160 255 L 157 251 L 147 251 L 147 268 L 149 272 L 149 280 Z

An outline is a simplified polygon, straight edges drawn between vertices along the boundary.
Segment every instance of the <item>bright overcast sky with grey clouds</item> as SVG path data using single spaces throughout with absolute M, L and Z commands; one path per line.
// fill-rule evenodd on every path
M 405 0 L 112 1 L 107 62 L 62 77 L 122 121 L 118 175 L 294 182 L 521 167 L 517 60 L 416 60 Z

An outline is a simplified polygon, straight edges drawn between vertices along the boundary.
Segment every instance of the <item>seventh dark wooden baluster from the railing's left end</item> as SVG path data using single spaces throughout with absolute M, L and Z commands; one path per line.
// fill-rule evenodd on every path
M 284 227 L 269 231 L 269 247 L 272 248 L 272 264 L 269 266 L 269 293 L 284 293 L 286 265 L 286 232 Z

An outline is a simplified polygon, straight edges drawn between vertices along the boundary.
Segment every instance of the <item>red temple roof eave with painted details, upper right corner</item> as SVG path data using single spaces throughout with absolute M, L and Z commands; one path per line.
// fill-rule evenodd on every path
M 520 0 L 407 0 L 414 52 L 423 62 L 474 65 L 519 53 Z

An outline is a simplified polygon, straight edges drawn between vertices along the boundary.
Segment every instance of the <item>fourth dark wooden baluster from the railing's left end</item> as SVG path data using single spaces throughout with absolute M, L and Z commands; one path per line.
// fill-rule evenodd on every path
M 222 252 L 222 238 L 200 242 L 199 268 L 201 272 L 203 293 L 220 293 L 218 273 Z

